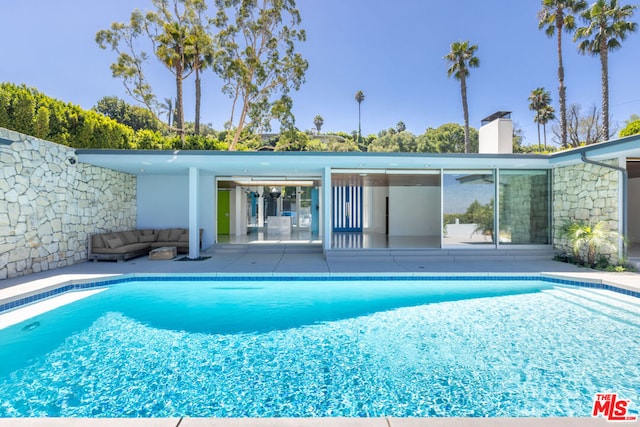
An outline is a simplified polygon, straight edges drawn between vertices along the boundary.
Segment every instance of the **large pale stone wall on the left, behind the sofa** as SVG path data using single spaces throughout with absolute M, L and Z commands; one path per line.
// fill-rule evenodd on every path
M 136 177 L 0 128 L 0 279 L 87 259 L 89 233 L 136 226 Z M 69 160 L 73 159 L 73 160 Z

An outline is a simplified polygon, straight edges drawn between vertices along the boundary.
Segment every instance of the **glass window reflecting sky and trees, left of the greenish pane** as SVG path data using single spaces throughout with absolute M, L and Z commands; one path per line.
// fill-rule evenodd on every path
M 493 245 L 493 172 L 445 171 L 442 191 L 443 246 Z

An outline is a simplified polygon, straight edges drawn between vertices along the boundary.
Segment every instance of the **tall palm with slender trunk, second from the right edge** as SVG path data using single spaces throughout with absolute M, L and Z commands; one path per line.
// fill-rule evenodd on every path
M 583 0 L 542 0 L 538 12 L 538 28 L 545 29 L 549 37 L 557 35 L 558 40 L 558 97 L 560 98 L 560 138 L 562 147 L 567 146 L 567 93 L 564 86 L 564 65 L 562 64 L 562 30 L 575 29 L 574 14 L 587 8 Z

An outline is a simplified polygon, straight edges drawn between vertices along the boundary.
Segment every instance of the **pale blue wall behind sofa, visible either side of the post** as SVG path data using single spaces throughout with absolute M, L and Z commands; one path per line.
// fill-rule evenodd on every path
M 198 212 L 203 229 L 202 247 L 213 244 L 215 182 L 213 177 L 199 180 Z M 161 188 L 161 191 L 158 189 Z M 137 228 L 189 227 L 189 177 L 176 175 L 139 175 L 137 179 Z

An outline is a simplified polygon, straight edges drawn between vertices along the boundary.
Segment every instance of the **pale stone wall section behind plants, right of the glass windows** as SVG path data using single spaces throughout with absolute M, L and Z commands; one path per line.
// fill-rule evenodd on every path
M 603 163 L 618 165 L 617 160 Z M 604 221 L 609 230 L 620 231 L 619 180 L 618 171 L 588 163 L 553 170 L 553 245 L 556 249 L 572 252 L 562 232 L 568 221 L 594 225 Z M 602 248 L 598 254 L 607 256 L 611 263 L 618 262 L 617 249 Z M 586 252 L 581 256 L 586 258 Z

